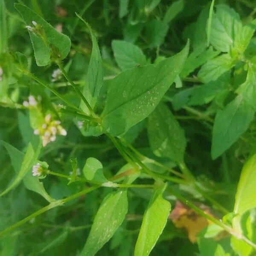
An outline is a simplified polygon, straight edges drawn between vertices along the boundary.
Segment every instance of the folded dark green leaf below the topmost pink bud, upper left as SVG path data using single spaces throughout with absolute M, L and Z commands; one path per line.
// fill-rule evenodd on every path
M 53 47 L 58 49 L 58 54 L 60 55 L 61 60 L 66 58 L 71 46 L 70 39 L 67 35 L 63 35 L 58 32 L 54 27 L 28 7 L 16 3 L 15 8 L 23 17 L 27 26 L 33 26 L 32 21 L 35 21 L 39 26 L 41 26 L 41 30 L 44 31 L 44 39 L 29 31 L 30 39 L 34 48 L 36 64 L 38 66 L 46 66 L 51 63 Z

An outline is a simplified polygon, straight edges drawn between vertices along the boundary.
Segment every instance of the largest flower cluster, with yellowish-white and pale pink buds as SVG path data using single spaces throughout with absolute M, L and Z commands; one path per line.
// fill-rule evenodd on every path
M 52 120 L 51 114 L 47 114 L 44 120 L 45 123 L 39 129 L 34 131 L 34 134 L 41 136 L 44 147 L 49 142 L 55 141 L 56 135 L 67 135 L 67 131 L 61 126 L 61 121 Z

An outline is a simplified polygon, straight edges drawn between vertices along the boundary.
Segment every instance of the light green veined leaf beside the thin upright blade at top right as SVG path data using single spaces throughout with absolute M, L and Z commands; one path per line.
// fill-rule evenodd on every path
M 233 9 L 227 5 L 217 6 L 212 15 L 210 43 L 218 51 L 229 52 L 241 27 L 240 17 Z

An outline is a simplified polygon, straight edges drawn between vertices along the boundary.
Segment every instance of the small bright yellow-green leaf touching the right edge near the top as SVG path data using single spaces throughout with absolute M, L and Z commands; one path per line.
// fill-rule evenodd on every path
M 234 48 L 236 51 L 238 51 L 240 54 L 245 51 L 247 46 L 250 43 L 251 38 L 253 37 L 253 34 L 256 29 L 256 19 L 253 20 L 251 23 L 246 24 L 242 27 L 242 29 L 239 30 L 235 37 L 234 41 Z

